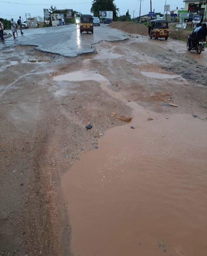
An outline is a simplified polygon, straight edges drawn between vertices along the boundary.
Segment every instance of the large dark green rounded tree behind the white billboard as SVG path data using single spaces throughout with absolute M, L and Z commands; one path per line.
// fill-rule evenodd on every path
M 116 18 L 117 8 L 114 0 L 93 0 L 91 13 L 99 17 L 99 11 L 113 11 L 113 18 Z

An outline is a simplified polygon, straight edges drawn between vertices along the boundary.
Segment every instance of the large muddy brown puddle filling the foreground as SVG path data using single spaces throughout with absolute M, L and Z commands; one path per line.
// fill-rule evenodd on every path
M 62 177 L 74 255 L 206 256 L 206 122 L 129 104 Z

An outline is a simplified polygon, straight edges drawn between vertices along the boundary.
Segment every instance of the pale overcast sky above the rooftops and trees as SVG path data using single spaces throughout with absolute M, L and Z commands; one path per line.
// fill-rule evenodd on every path
M 92 0 L 0 0 L 0 17 L 10 20 L 14 18 L 16 21 L 19 16 L 25 20 L 25 14 L 30 13 L 31 17 L 43 17 L 43 8 L 50 8 L 51 5 L 57 9 L 73 9 L 82 14 L 90 14 Z M 139 16 L 140 0 L 115 0 L 117 8 L 120 10 L 120 15 L 126 13 L 129 9 L 131 17 Z M 164 11 L 165 0 L 152 0 L 152 10 L 155 12 Z M 167 0 L 166 4 L 170 5 L 170 9 L 184 7 L 183 0 Z M 147 14 L 150 11 L 150 0 L 142 0 L 141 15 Z

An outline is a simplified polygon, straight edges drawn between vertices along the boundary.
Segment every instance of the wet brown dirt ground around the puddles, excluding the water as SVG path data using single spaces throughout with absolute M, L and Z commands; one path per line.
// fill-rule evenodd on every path
M 119 116 L 132 115 L 126 102 L 167 118 L 187 113 L 206 122 L 206 52 L 198 56 L 183 42 L 145 36 L 95 47 L 95 54 L 78 58 L 27 46 L 1 51 L 2 255 L 72 255 L 61 177 L 87 151 L 98 150 L 108 129 L 125 124 Z M 77 70 L 108 83 L 53 79 Z

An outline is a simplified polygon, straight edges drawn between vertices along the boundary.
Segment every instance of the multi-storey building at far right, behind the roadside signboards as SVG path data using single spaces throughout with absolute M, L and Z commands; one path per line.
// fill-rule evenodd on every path
M 199 14 L 203 17 L 203 20 L 207 20 L 207 0 L 184 0 L 185 10 L 188 12 L 193 12 Z

